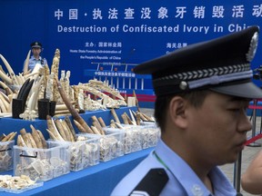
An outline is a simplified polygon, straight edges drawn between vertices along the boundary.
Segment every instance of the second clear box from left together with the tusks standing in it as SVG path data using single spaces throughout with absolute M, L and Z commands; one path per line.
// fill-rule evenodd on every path
M 36 181 L 48 181 L 69 172 L 66 145 L 45 142 L 42 132 L 30 125 L 32 133 L 20 130 L 14 146 L 14 173 Z

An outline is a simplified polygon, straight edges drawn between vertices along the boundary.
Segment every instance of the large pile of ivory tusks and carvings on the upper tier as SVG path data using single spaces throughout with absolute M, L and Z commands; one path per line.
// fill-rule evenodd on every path
M 5 73 L 0 65 L 0 78 L 3 81 L 0 81 L 0 86 L 5 90 L 5 93 L 0 92 L 0 116 L 8 115 L 8 113 L 10 116 L 13 98 L 17 97 L 22 86 L 25 85 L 25 83 L 28 84 L 28 81 L 33 84 L 25 100 L 25 113 L 21 115 L 21 118 L 25 120 L 35 120 L 38 110 L 37 100 L 46 98 L 56 102 L 56 117 L 72 114 L 74 120 L 76 120 L 77 127 L 79 127 L 78 124 L 80 124 L 80 129 L 84 129 L 86 132 L 94 132 L 94 130 L 92 131 L 92 127 L 88 128 L 85 122 L 82 122 L 82 120 L 76 116 L 76 113 L 126 106 L 126 99 L 114 86 L 109 85 L 108 81 L 101 82 L 95 79 L 89 80 L 88 83 L 79 83 L 78 85 L 71 86 L 69 80 L 71 73 L 70 71 L 65 72 L 65 70 L 61 71 L 61 77 L 58 79 L 60 63 L 59 49 L 55 50 L 51 69 L 49 69 L 47 64 L 45 64 L 44 67 L 36 64 L 32 72 L 28 70 L 30 53 L 29 51 L 26 55 L 24 72 L 18 74 L 14 73 L 11 65 L 5 57 L 0 54 L 0 58 L 8 71 L 8 73 Z M 63 89 L 68 102 L 71 103 L 70 107 L 73 107 L 75 112 L 72 113 L 72 109 L 68 108 L 68 104 L 65 103 L 65 99 L 62 97 L 59 88 Z M 92 99 L 90 94 L 94 95 Z M 133 96 L 136 96 L 136 94 L 133 94 Z M 98 100 L 96 97 L 98 97 Z M 79 119 L 80 122 L 78 121 Z

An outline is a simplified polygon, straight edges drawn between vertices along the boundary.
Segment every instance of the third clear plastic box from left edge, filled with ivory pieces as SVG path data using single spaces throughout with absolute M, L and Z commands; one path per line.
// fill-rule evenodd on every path
M 67 144 L 66 152 L 69 154 L 70 171 L 80 171 L 99 163 L 98 138 L 87 139 L 76 135 L 77 142 L 58 142 Z M 55 141 L 51 141 L 55 142 Z

